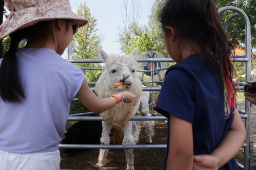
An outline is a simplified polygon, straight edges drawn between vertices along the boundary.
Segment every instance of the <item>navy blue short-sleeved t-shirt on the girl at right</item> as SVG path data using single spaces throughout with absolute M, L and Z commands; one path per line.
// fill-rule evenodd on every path
M 194 155 L 210 154 L 218 147 L 234 117 L 232 114 L 225 118 L 218 60 L 194 54 L 169 67 L 155 110 L 167 118 L 172 114 L 191 123 Z M 169 147 L 169 132 L 167 135 Z M 233 158 L 219 169 L 236 170 L 238 165 Z

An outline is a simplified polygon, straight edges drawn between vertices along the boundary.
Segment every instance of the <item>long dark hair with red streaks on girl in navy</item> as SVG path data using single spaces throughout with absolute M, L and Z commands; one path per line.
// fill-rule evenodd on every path
M 171 26 L 183 40 L 195 41 L 206 53 L 220 61 L 225 103 L 228 110 L 230 106 L 234 107 L 235 88 L 232 79 L 235 71 L 230 60 L 234 48 L 219 21 L 213 0 L 167 0 L 159 18 L 167 36 L 166 26 Z

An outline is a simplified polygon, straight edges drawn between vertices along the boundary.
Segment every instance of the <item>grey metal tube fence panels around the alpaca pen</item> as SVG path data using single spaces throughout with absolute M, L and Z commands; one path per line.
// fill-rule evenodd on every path
M 242 17 L 245 22 L 245 29 L 246 29 L 246 54 L 233 56 L 232 60 L 234 62 L 245 62 L 246 63 L 246 81 L 250 80 L 250 66 L 251 66 L 251 44 L 250 44 L 250 21 L 247 15 L 237 7 L 223 7 L 220 8 L 218 11 L 223 12 L 226 10 L 235 11 L 234 15 L 230 16 L 224 25 L 224 29 L 227 31 L 229 23 L 235 17 Z M 68 47 L 68 60 L 72 63 L 102 63 L 102 59 L 72 59 L 72 49 L 71 45 Z M 170 58 L 139 58 L 136 59 L 139 63 L 163 63 L 163 62 L 174 62 Z M 143 65 L 143 64 L 142 64 Z M 95 70 L 102 70 L 102 68 L 89 68 L 83 67 L 81 69 L 95 69 Z M 151 81 L 143 82 L 143 83 L 150 83 L 151 87 L 144 87 L 143 91 L 151 91 L 151 102 L 149 103 L 149 107 L 151 107 L 151 114 L 153 116 L 133 116 L 130 120 L 167 120 L 164 116 L 157 116 L 154 114 L 153 104 L 154 104 L 154 94 L 157 93 L 155 91 L 160 91 L 161 87 L 154 87 L 154 83 L 161 83 L 162 81 L 154 81 L 154 71 L 160 71 L 167 68 L 153 68 L 153 64 L 151 64 Z M 147 72 L 146 70 L 137 70 L 142 72 Z M 90 82 L 90 84 L 95 84 L 95 82 Z M 239 89 L 243 89 L 245 82 L 239 82 Z M 94 88 L 91 88 L 94 91 Z M 77 99 L 74 99 L 77 100 Z M 92 112 L 88 113 L 77 113 L 69 115 L 68 120 L 103 120 L 102 117 L 93 117 L 93 116 L 85 116 L 87 114 L 91 114 Z M 246 141 L 243 144 L 244 148 L 244 165 L 238 163 L 241 169 L 253 169 L 253 141 L 250 141 L 250 103 L 245 101 L 245 110 L 239 110 L 241 117 L 244 119 L 245 128 L 246 128 Z M 137 145 L 102 145 L 102 144 L 60 144 L 60 148 L 72 148 L 72 149 L 165 149 L 167 146 L 166 144 L 137 144 Z

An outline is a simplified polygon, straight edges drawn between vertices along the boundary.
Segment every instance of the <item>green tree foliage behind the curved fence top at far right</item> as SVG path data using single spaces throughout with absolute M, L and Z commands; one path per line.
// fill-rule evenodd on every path
M 250 20 L 251 25 L 251 50 L 256 48 L 256 1 L 255 0 L 246 0 L 246 1 L 232 1 L 232 0 L 214 0 L 216 7 L 219 9 L 225 6 L 235 6 L 243 10 Z M 234 14 L 233 11 L 225 11 L 220 13 L 220 20 L 224 23 L 227 19 Z M 227 30 L 228 37 L 230 38 L 232 44 L 235 48 L 244 48 L 245 47 L 245 22 L 242 17 L 234 18 Z M 255 60 L 252 60 L 252 69 Z M 245 63 L 235 62 L 234 63 L 235 71 L 237 72 L 238 81 L 245 81 Z M 252 75 L 253 77 L 253 75 Z

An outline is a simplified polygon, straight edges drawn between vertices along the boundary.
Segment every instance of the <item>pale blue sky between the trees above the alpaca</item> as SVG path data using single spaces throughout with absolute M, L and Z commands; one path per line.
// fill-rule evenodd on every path
M 91 16 L 97 19 L 97 33 L 101 37 L 102 47 L 108 54 L 120 54 L 121 45 L 116 42 L 117 34 L 120 32 L 119 28 L 123 27 L 123 0 L 70 0 L 70 5 L 72 11 L 77 13 L 77 9 L 80 4 L 86 2 L 89 7 Z M 128 5 L 131 6 L 132 0 L 128 0 Z M 140 2 L 140 0 L 135 0 L 135 2 Z M 139 25 L 144 26 L 148 24 L 148 16 L 151 12 L 151 6 L 154 0 L 141 0 L 141 17 L 139 20 Z

